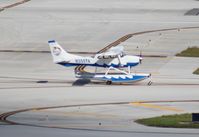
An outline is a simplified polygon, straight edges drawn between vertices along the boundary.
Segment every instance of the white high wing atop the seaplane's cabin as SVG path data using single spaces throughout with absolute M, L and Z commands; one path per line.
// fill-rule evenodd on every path
M 106 52 L 96 54 L 98 59 L 113 59 L 117 58 L 119 55 L 122 56 L 124 54 L 124 47 L 123 46 L 116 46 L 112 47 Z

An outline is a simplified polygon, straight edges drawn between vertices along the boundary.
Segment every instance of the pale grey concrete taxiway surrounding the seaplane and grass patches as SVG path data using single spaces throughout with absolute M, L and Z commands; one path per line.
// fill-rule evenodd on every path
M 199 111 L 199 77 L 192 74 L 199 59 L 175 56 L 199 44 L 198 16 L 185 15 L 197 6 L 195 0 L 31 0 L 5 8 L 0 12 L 1 136 L 198 136 L 197 129 L 134 122 Z M 53 64 L 46 52 L 50 39 L 67 51 L 97 52 L 120 38 L 116 43 L 128 54 L 144 55 L 132 71 L 152 73 L 151 86 L 149 80 L 111 86 L 76 81 L 74 68 Z

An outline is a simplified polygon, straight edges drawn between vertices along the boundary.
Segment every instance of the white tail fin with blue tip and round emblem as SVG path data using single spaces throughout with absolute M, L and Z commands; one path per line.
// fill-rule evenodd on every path
M 67 53 L 55 40 L 48 41 L 54 63 L 70 61 L 71 55 Z

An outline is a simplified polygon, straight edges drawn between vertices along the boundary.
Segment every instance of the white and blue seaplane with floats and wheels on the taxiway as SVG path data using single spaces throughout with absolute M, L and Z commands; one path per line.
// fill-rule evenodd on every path
M 123 46 L 115 46 L 93 56 L 84 57 L 65 51 L 55 40 L 48 41 L 53 62 L 65 67 L 92 66 L 95 72 L 75 69 L 75 77 L 112 83 L 134 83 L 151 77 L 146 73 L 131 73 L 131 68 L 142 62 L 141 56 L 126 55 Z M 104 73 L 97 72 L 98 67 L 106 68 Z M 148 83 L 148 85 L 150 82 Z

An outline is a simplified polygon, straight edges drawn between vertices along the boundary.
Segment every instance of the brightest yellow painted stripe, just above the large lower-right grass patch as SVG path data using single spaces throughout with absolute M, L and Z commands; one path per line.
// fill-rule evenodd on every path
M 168 111 L 175 111 L 175 112 L 182 112 L 183 110 L 173 108 L 173 107 L 167 107 L 167 106 L 159 106 L 159 105 L 153 105 L 153 104 L 146 104 L 146 103 L 140 103 L 140 102 L 132 102 L 130 103 L 131 105 L 134 106 L 141 106 L 145 108 L 153 108 L 153 109 L 160 109 L 160 110 L 168 110 Z

